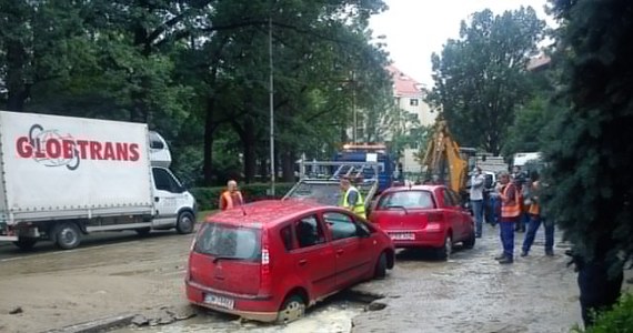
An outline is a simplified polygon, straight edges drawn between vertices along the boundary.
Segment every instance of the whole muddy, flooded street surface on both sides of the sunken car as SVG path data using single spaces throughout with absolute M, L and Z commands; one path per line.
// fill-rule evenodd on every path
M 458 249 L 448 262 L 423 251 L 400 252 L 385 280 L 353 287 L 354 294 L 382 295 L 372 304 L 378 311 L 341 294 L 287 326 L 192 310 L 182 283 L 191 235 L 115 233 L 89 238 L 72 251 L 42 243 L 32 253 L 2 244 L 0 331 L 43 332 L 121 314 L 142 314 L 154 326 L 111 331 L 569 332 L 581 322 L 576 275 L 566 266 L 564 244 L 545 256 L 540 233 L 529 256 L 515 250 L 514 264 L 500 265 L 493 260 L 499 230 L 486 225 L 484 232 L 473 250 Z M 518 245 L 522 240 L 516 234 Z M 197 315 L 158 325 L 161 309 Z

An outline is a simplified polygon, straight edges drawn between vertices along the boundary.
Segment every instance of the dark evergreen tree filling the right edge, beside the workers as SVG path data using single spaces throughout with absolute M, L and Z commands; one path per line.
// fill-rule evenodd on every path
M 573 244 L 587 325 L 589 310 L 617 299 L 633 253 L 633 3 L 553 2 L 563 27 L 565 108 L 544 147 L 545 209 Z

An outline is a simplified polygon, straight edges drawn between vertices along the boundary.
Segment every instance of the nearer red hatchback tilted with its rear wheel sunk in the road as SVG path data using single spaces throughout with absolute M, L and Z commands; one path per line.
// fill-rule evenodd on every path
M 259 201 L 210 215 L 191 245 L 193 304 L 280 323 L 354 283 L 383 278 L 391 239 L 351 212 L 307 201 Z

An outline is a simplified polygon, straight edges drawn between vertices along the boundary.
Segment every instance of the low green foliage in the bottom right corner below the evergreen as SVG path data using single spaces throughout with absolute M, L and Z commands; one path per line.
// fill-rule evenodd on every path
M 584 333 L 630 333 L 633 332 L 633 294 L 626 293 L 612 310 L 596 314 L 592 326 L 586 330 L 574 327 L 573 332 Z

